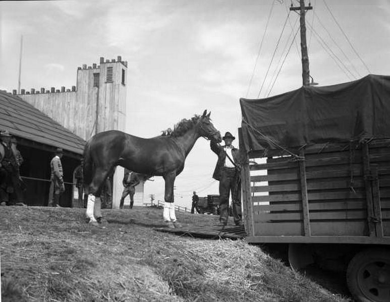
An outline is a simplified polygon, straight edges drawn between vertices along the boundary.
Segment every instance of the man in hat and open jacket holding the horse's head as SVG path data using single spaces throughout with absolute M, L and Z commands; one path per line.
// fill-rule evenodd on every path
M 241 214 L 240 153 L 232 145 L 235 137 L 226 132 L 222 139 L 225 145 L 210 141 L 211 150 L 218 156 L 212 177 L 219 181 L 219 225 L 225 226 L 229 218 L 229 195 L 232 193 L 233 219 L 236 225 L 243 225 Z

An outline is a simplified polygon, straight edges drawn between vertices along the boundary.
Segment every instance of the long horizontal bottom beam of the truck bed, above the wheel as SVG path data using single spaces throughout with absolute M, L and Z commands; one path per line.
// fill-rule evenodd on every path
M 335 243 L 335 244 L 379 244 L 390 245 L 390 237 L 365 236 L 251 236 L 248 243 Z

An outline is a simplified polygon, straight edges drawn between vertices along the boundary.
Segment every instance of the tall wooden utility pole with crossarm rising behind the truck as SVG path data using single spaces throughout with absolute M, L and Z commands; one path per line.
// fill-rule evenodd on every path
M 302 80 L 303 86 L 310 85 L 310 71 L 309 71 L 309 55 L 307 54 L 307 44 L 306 44 L 306 23 L 305 15 L 306 11 L 312 10 L 313 7 L 310 5 L 305 7 L 305 0 L 299 0 L 299 7 L 293 7 L 291 4 L 290 11 L 299 11 L 301 16 L 300 18 L 300 27 L 301 27 L 301 53 L 302 53 Z

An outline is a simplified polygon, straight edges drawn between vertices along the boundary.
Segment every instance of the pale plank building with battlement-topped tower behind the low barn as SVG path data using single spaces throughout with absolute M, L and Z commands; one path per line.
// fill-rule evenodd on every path
M 77 69 L 77 86 L 72 89 L 21 90 L 18 95 L 65 128 L 88 140 L 106 130 L 126 128 L 127 61 L 121 56 Z M 16 90 L 13 94 L 17 94 Z M 113 180 L 113 208 L 119 208 L 124 169 L 118 167 Z M 135 204 L 143 203 L 143 183 L 136 188 Z M 129 198 L 129 197 L 127 197 Z M 129 200 L 125 201 L 125 204 Z

